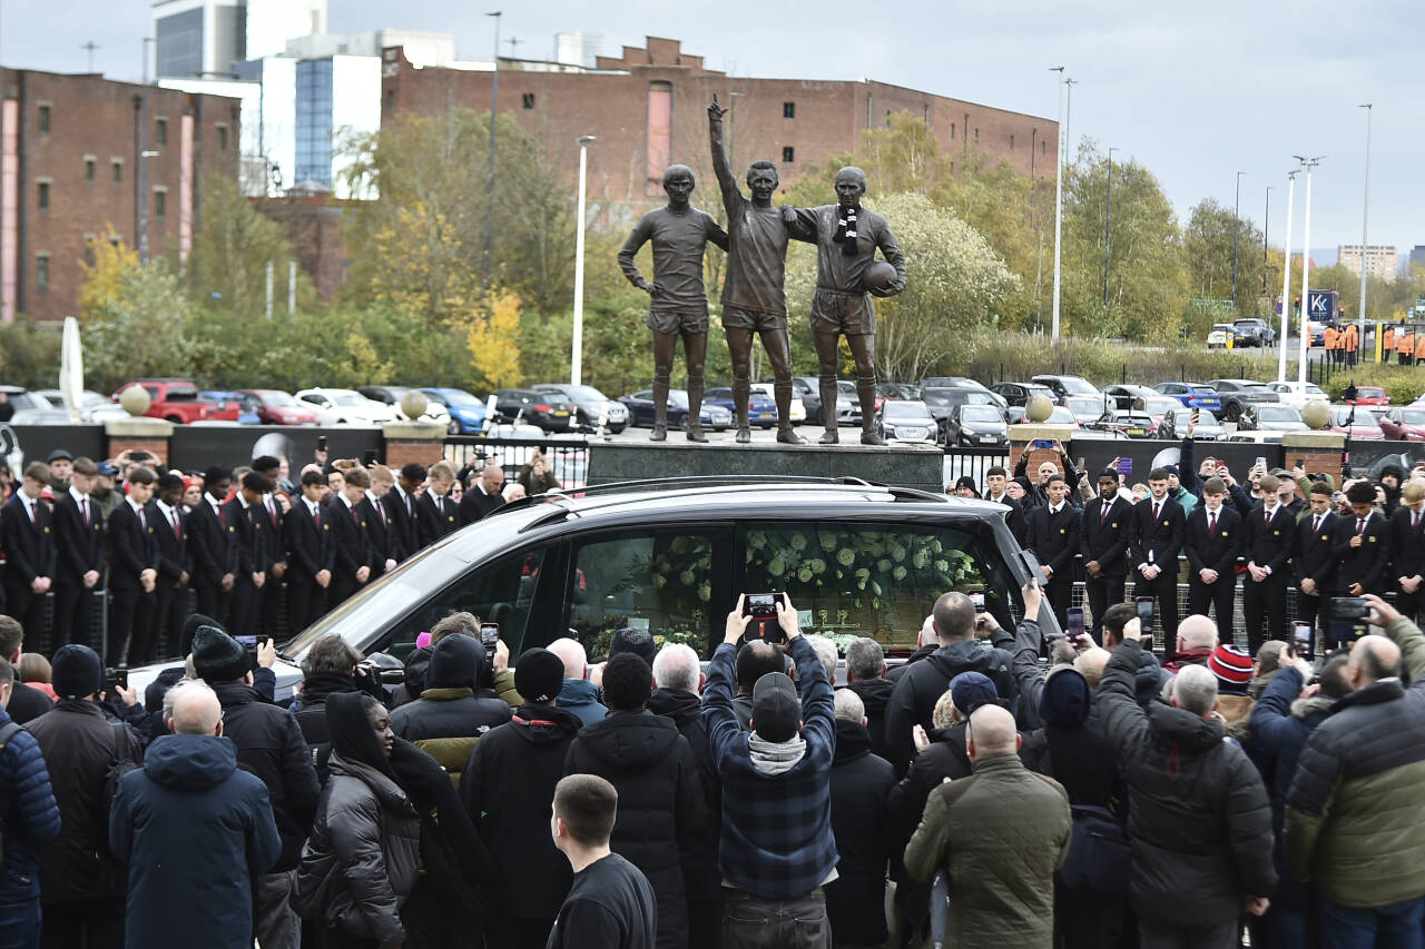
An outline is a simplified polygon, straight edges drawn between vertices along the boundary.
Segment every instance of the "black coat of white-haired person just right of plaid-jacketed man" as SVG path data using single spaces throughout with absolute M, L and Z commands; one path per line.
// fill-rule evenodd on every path
M 831 759 L 831 832 L 836 879 L 826 883 L 826 916 L 838 940 L 879 946 L 886 932 L 886 861 L 891 856 L 888 798 L 895 768 L 871 752 L 856 721 L 836 720 Z

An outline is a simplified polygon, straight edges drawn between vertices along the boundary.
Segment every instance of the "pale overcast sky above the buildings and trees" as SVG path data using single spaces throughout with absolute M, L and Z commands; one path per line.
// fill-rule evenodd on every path
M 1421 0 L 487 0 L 520 57 L 547 57 L 556 30 L 600 30 L 604 53 L 644 36 L 683 40 L 735 76 L 869 77 L 1054 117 L 1054 74 L 1077 80 L 1069 134 L 1090 135 L 1157 174 L 1180 215 L 1204 197 L 1271 242 L 1284 229 L 1292 154 L 1327 155 L 1312 187 L 1311 245 L 1361 241 L 1365 110 L 1371 135 L 1371 244 L 1425 244 L 1425 16 Z M 489 58 L 492 20 L 469 0 L 331 0 L 331 30 L 455 33 L 462 58 Z M 0 0 L 0 61 L 137 80 L 147 0 Z M 502 43 L 502 53 L 510 47 Z M 1292 247 L 1301 247 L 1301 188 Z

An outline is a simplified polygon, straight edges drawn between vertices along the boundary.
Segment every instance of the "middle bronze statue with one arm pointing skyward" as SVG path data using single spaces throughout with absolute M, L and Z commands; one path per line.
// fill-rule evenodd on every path
M 727 279 L 722 282 L 722 329 L 732 356 L 732 403 L 737 409 L 737 440 L 751 442 L 747 420 L 751 396 L 752 339 L 761 336 L 767 362 L 772 368 L 772 396 L 777 399 L 777 440 L 802 445 L 792 430 L 792 358 L 787 335 L 787 224 L 772 207 L 777 191 L 777 165 L 754 161 L 747 170 L 751 199 L 742 197 L 728 165 L 722 145 L 722 115 L 717 95 L 708 105 L 708 137 L 712 145 L 712 170 L 727 209 Z M 831 405 L 835 405 L 832 402 Z

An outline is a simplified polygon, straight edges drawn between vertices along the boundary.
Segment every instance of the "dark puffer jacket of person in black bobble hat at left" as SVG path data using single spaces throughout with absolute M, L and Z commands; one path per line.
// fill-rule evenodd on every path
M 217 683 L 222 705 L 222 734 L 238 747 L 238 765 L 262 778 L 272 798 L 272 816 L 282 836 L 274 873 L 296 866 L 302 844 L 316 816 L 321 787 L 296 720 L 271 705 L 251 685 Z

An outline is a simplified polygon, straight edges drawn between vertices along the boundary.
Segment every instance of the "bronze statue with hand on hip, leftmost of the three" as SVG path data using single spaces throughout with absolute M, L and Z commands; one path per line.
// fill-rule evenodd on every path
M 688 422 L 690 442 L 707 442 L 700 415 L 703 412 L 703 362 L 708 351 L 708 295 L 703 286 L 703 248 L 711 241 L 724 251 L 727 231 L 707 211 L 690 204 L 693 170 L 668 165 L 663 172 L 663 190 L 668 204 L 640 218 L 633 234 L 618 251 L 618 266 L 628 282 L 648 292 L 648 329 L 653 331 L 653 435 L 654 442 L 668 437 L 668 378 L 673 375 L 673 353 L 683 338 L 683 355 L 688 363 Z M 653 282 L 643 278 L 634 255 L 646 241 L 653 241 Z

